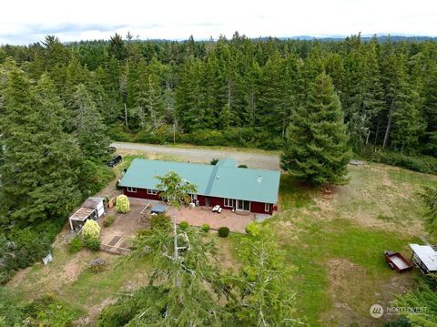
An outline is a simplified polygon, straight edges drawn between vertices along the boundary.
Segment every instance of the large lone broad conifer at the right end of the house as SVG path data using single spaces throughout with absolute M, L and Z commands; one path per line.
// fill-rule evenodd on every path
M 340 99 L 329 76 L 316 77 L 305 107 L 291 119 L 281 168 L 314 184 L 346 182 L 350 149 Z

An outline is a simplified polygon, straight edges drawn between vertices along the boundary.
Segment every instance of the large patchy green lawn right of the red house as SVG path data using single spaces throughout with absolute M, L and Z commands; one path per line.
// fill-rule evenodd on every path
M 408 244 L 431 240 L 422 226 L 423 185 L 435 176 L 384 165 L 350 167 L 350 182 L 334 189 L 331 200 L 320 189 L 282 175 L 280 213 L 267 222 L 281 249 L 298 271 L 289 289 L 310 326 L 383 325 L 374 320 L 374 303 L 388 305 L 395 294 L 414 287 L 417 271 L 391 271 L 383 250 L 401 251 Z M 229 240 L 234 256 L 241 238 Z

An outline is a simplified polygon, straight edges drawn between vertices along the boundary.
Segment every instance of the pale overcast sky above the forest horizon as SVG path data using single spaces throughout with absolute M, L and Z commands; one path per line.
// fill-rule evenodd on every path
M 232 36 L 437 36 L 435 0 L 7 0 L 0 44 L 108 39 Z

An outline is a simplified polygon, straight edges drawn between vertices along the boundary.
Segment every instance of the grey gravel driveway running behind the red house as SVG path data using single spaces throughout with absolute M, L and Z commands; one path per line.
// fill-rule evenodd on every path
M 257 152 L 240 152 L 238 150 L 212 148 L 177 148 L 128 142 L 114 142 L 111 146 L 122 152 L 135 151 L 155 153 L 195 162 L 209 162 L 212 158 L 233 158 L 237 160 L 239 164 L 247 165 L 249 168 L 279 170 L 278 155 L 261 154 Z

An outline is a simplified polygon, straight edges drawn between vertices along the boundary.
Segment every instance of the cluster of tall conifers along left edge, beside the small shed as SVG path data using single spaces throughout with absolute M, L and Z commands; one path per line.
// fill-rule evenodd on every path
M 83 84 L 0 66 L 0 284 L 42 260 L 68 214 L 113 172 L 103 118 Z

